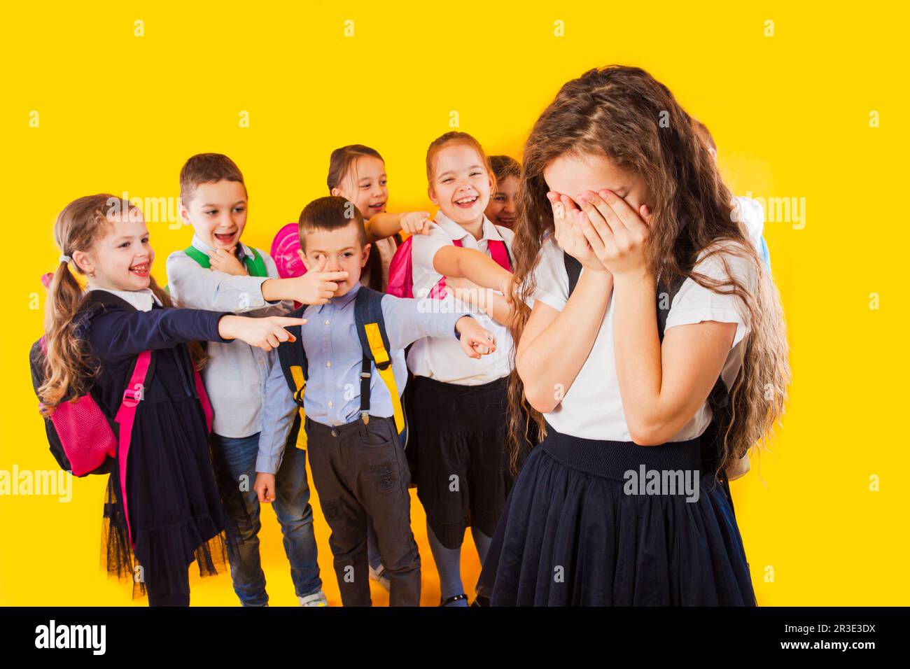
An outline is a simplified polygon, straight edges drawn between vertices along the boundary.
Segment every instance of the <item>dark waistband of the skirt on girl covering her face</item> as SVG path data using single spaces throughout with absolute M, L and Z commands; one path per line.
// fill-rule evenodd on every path
M 662 446 L 639 446 L 633 441 L 582 439 L 553 430 L 547 423 L 547 438 L 539 448 L 554 460 L 581 471 L 609 479 L 624 480 L 627 471 L 700 471 L 701 440 L 672 441 Z

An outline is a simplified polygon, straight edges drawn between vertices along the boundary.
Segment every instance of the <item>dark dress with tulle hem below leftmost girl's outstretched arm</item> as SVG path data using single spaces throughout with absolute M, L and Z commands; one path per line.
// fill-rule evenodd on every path
M 123 513 L 119 461 L 106 491 L 102 562 L 133 581 L 133 596 L 189 593 L 188 567 L 199 575 L 227 573 L 227 525 L 205 416 L 179 382 L 177 350 L 157 351 L 155 375 L 136 411 L 126 468 L 131 546 Z M 119 457 L 119 453 L 117 454 Z M 237 486 L 235 486 L 235 489 Z

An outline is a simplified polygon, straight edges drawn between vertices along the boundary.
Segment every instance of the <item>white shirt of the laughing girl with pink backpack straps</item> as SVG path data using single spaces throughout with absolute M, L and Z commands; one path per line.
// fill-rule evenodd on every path
M 455 239 L 461 240 L 462 248 L 476 248 L 487 255 L 488 240 L 497 239 L 505 242 L 511 255 L 514 233 L 509 228 L 495 226 L 489 218 L 483 218 L 483 236 L 475 239 L 473 235 L 441 211 L 430 224 L 426 235 L 414 235 L 411 242 L 411 265 L 413 268 L 414 297 L 428 295 L 430 290 L 440 282 L 442 275 L 433 269 L 433 257 L 440 248 L 451 246 Z M 480 325 L 493 333 L 496 338 L 496 350 L 480 360 L 469 358 L 461 350 L 458 340 L 438 337 L 427 337 L 414 342 L 408 355 L 408 368 L 417 376 L 426 376 L 442 383 L 455 383 L 462 386 L 480 386 L 484 383 L 501 379 L 510 372 L 512 341 L 509 329 L 500 325 L 478 309 L 456 299 L 451 291 L 446 291 L 445 298 L 428 299 L 428 308 L 448 309 L 450 311 L 470 311 L 480 321 Z

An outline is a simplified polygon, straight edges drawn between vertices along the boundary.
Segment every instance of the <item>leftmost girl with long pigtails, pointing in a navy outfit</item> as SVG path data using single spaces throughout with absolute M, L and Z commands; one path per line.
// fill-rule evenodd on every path
M 71 202 L 55 237 L 63 255 L 45 321 L 43 411 L 50 416 L 88 395 L 115 423 L 137 360 L 146 360 L 132 429 L 119 426 L 110 466 L 103 552 L 108 573 L 133 580 L 134 595 L 147 593 L 149 605 L 186 606 L 189 565 L 196 561 L 207 575 L 226 564 L 198 342 L 239 339 L 270 350 L 291 337 L 283 326 L 301 319 L 173 309 L 151 276 L 155 252 L 146 223 L 114 196 Z M 85 289 L 74 273 L 86 278 Z M 112 429 L 117 434 L 116 423 Z

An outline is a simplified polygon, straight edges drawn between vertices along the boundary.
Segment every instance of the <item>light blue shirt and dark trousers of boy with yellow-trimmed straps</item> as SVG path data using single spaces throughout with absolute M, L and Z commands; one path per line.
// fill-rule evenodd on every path
M 304 393 L 309 464 L 319 503 L 329 522 L 329 545 L 335 557 L 345 606 L 369 606 L 367 524 L 379 539 L 382 564 L 390 583 L 390 603 L 420 604 L 420 555 L 410 531 L 410 474 L 393 418 L 389 390 L 371 363 L 369 422 L 360 417 L 363 350 L 355 321 L 355 298 L 362 289 L 303 312 L 308 323 L 298 342 L 308 360 Z M 404 348 L 421 337 L 456 340 L 455 323 L 464 313 L 432 313 L 415 299 L 382 298 L 389 337 L 389 358 L 399 389 L 407 383 Z M 467 360 L 463 351 L 462 358 Z M 257 471 L 280 466 L 298 407 L 276 365 L 266 384 Z

